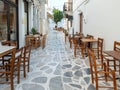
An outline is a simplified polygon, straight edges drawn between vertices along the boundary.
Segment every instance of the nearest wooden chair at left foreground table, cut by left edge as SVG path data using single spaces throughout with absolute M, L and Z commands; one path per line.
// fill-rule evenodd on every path
M 14 72 L 14 62 L 15 62 L 15 51 L 16 49 L 14 48 L 11 50 L 11 52 L 6 54 L 6 55 L 11 54 L 11 58 L 10 58 L 11 62 L 6 63 L 5 66 L 3 66 L 4 68 L 3 67 L 0 68 L 0 78 L 2 78 L 0 84 L 10 84 L 11 90 L 14 90 L 13 72 Z

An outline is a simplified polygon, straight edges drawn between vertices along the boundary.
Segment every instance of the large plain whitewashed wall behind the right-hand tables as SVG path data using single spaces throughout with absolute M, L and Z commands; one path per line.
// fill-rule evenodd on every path
M 75 31 L 79 31 L 79 13 L 83 12 L 83 33 L 104 38 L 104 48 L 113 49 L 114 41 L 120 41 L 120 0 L 82 1 L 74 0 Z

